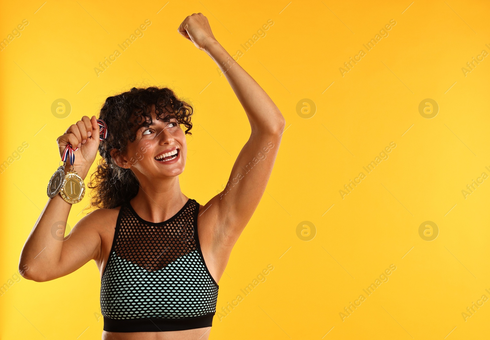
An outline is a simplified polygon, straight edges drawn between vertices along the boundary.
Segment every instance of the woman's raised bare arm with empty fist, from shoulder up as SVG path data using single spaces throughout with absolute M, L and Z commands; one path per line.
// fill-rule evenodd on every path
M 285 120 L 267 93 L 215 39 L 204 15 L 187 17 L 178 31 L 218 64 L 250 122 L 250 137 L 235 161 L 225 189 L 204 206 L 202 210 L 206 213 L 200 217 L 215 228 L 212 231 L 217 236 L 215 246 L 229 249 L 264 194 Z

